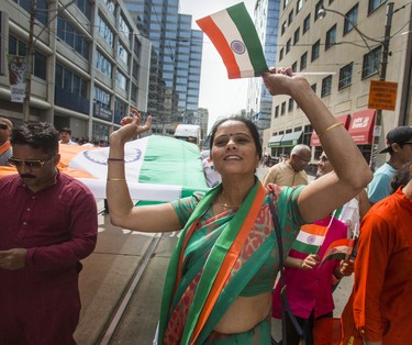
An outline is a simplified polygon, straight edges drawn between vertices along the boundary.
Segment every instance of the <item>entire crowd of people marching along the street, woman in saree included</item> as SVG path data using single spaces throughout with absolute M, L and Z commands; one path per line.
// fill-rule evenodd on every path
M 142 123 L 135 114 L 110 135 L 112 224 L 181 231 L 165 279 L 157 344 L 270 344 L 283 289 L 290 304 L 283 320 L 287 344 L 313 344 L 316 320 L 333 315 L 334 287 L 353 272 L 342 344 L 408 344 L 412 127 L 388 133 L 382 153 L 390 159 L 374 175 L 304 77 L 271 68 L 263 80 L 272 96 L 293 98 L 319 133 L 323 153 L 312 182 L 304 172 L 311 160 L 305 145 L 293 147 L 260 181 L 257 127 L 232 116 L 214 124 L 202 157 L 214 174 L 209 191 L 136 207 L 125 178 L 124 145 L 148 131 L 152 118 Z M 19 172 L 0 179 L 0 344 L 75 344 L 80 260 L 96 246 L 97 210 L 91 192 L 56 168 L 59 143 L 77 144 L 70 129 L 57 131 L 48 123 L 13 129 L 0 116 L 0 163 Z M 322 235 L 314 233 L 319 229 Z M 350 257 L 323 261 L 330 245 L 347 238 L 354 243 Z M 277 282 L 280 270 L 286 286 Z

